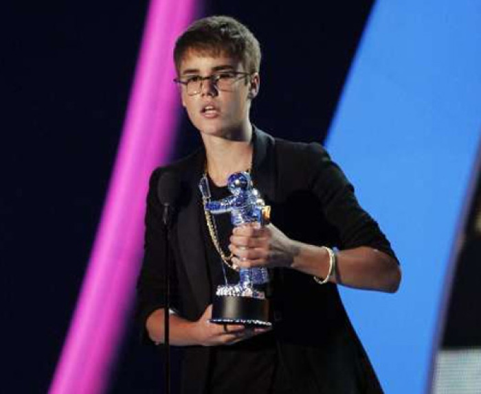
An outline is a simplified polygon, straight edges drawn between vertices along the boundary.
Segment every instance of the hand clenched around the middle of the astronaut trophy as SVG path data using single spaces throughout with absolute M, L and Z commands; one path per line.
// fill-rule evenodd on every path
M 230 237 L 232 263 L 240 268 L 290 267 L 299 246 L 273 224 L 235 227 Z

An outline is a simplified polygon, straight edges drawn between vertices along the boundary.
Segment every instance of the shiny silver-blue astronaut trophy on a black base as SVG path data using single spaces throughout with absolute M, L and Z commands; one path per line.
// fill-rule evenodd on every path
M 236 172 L 227 179 L 227 187 L 232 196 L 218 201 L 210 200 L 207 177 L 201 178 L 199 188 L 203 196 L 206 212 L 212 215 L 230 213 L 234 227 L 255 223 L 258 226 L 269 224 L 270 207 L 265 205 L 257 189 L 252 185 L 248 172 Z M 208 221 L 209 224 L 209 221 Z M 215 224 L 213 231 L 216 232 Z M 244 324 L 270 327 L 269 300 L 265 292 L 256 288 L 269 282 L 266 268 L 240 268 L 240 281 L 217 287 L 212 305 L 212 323 Z M 227 282 L 227 280 L 226 280 Z

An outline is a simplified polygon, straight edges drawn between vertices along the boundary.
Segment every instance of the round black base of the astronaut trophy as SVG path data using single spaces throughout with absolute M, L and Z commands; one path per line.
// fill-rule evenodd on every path
M 212 323 L 271 327 L 269 300 L 253 297 L 215 296 Z

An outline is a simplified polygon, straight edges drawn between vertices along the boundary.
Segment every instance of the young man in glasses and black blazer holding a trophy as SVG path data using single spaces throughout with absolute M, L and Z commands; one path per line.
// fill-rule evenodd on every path
M 203 147 L 153 172 L 138 294 L 146 333 L 162 343 L 167 246 L 157 183 L 174 172 L 182 193 L 170 241 L 170 343 L 185 350 L 183 393 L 381 392 L 337 284 L 395 292 L 401 271 L 388 240 L 322 146 L 274 139 L 251 124 L 260 49 L 244 25 L 226 16 L 197 21 L 177 40 L 175 64 Z M 230 174 L 246 170 L 271 205 L 271 224 L 233 230 L 228 215 L 218 216 L 217 239 L 199 181 L 208 178 L 215 200 L 227 196 Z M 210 323 L 223 271 L 236 283 L 234 268 L 254 266 L 271 274 L 273 328 Z

